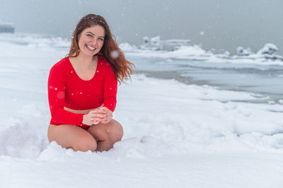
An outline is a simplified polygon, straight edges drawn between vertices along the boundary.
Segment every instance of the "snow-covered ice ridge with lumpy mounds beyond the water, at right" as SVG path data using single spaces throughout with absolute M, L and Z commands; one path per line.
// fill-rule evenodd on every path
M 170 47 L 170 50 L 165 50 Z M 127 55 L 134 57 L 160 57 L 171 59 L 187 59 L 207 62 L 225 63 L 250 63 L 250 64 L 279 64 L 283 65 L 283 56 L 276 54 L 276 45 L 267 43 L 258 52 L 238 47 L 236 54 L 231 55 L 224 49 L 211 49 L 205 51 L 199 45 L 194 45 L 190 40 L 161 40 L 160 37 L 144 38 L 144 45 L 120 44 L 120 48 L 127 52 Z M 217 52 L 219 51 L 219 52 Z

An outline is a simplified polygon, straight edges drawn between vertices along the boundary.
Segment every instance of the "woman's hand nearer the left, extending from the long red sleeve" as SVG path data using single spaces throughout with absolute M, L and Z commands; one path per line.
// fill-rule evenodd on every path
M 88 114 L 83 115 L 83 124 L 91 126 L 92 124 L 99 124 L 104 117 L 107 116 L 107 112 L 101 108 L 91 110 Z

